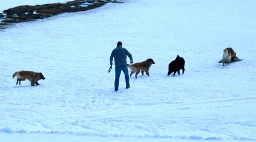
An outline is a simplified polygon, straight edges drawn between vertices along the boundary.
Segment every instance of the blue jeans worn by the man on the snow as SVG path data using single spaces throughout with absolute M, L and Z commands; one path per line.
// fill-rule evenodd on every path
M 123 70 L 123 73 L 125 73 L 125 82 L 126 82 L 126 88 L 130 87 L 129 82 L 129 73 L 128 73 L 128 67 L 127 65 L 115 65 L 115 91 L 118 90 L 119 87 L 119 78 L 121 75 L 121 71 Z

